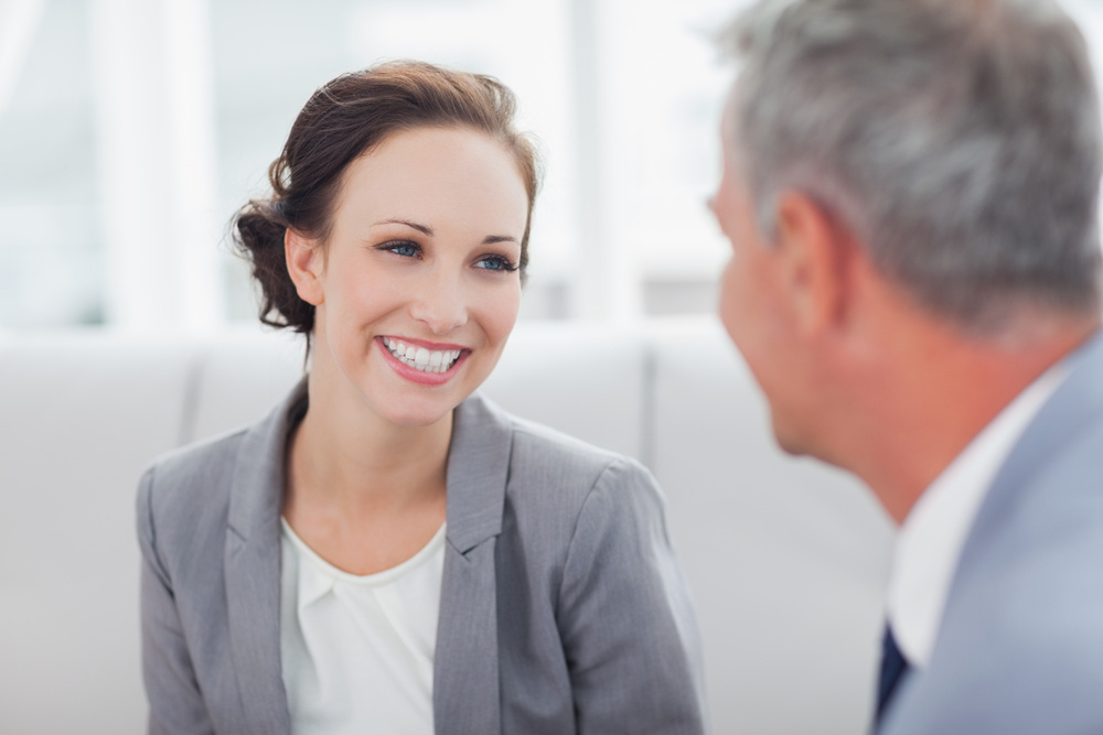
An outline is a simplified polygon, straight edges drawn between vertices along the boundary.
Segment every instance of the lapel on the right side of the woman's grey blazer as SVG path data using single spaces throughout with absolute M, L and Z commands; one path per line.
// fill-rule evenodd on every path
M 469 398 L 456 409 L 433 662 L 438 735 L 501 732 L 494 549 L 512 442 L 510 424 L 482 398 Z

